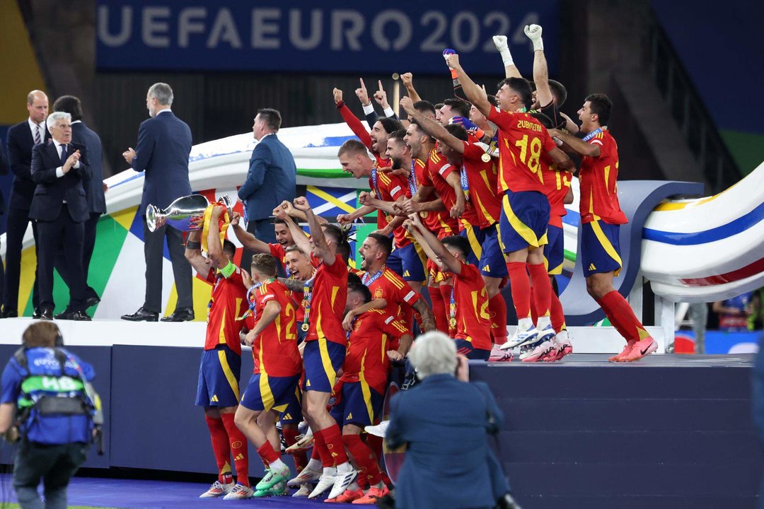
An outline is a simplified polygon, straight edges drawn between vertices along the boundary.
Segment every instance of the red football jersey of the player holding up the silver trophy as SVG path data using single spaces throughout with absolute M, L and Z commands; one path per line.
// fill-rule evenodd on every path
M 247 288 L 241 279 L 241 269 L 227 278 L 222 272 L 209 269 L 207 282 L 212 283 L 212 297 L 207 314 L 207 336 L 204 350 L 215 350 L 220 344 L 241 355 L 241 339 L 238 333 L 243 323 L 237 321 L 247 311 Z

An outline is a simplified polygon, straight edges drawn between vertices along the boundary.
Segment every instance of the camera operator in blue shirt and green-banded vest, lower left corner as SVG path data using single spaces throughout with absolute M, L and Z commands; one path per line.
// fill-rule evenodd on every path
M 51 322 L 31 324 L 22 340 L 2 373 L 0 398 L 0 433 L 18 441 L 13 487 L 22 509 L 63 509 L 70 478 L 100 433 L 100 400 L 89 383 L 95 372 L 63 349 Z

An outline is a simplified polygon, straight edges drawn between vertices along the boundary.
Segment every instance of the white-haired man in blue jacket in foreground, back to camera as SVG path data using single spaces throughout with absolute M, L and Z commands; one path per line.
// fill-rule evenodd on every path
M 390 449 L 407 445 L 395 507 L 494 507 L 500 499 L 520 509 L 488 447 L 487 434 L 503 425 L 490 389 L 468 382 L 467 361 L 444 333 L 417 337 L 409 359 L 422 382 L 393 396 L 385 437 Z

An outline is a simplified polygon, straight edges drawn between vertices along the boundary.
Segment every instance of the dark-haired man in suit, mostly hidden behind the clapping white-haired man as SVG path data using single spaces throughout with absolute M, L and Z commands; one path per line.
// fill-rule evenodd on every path
M 73 95 L 62 95 L 53 103 L 53 111 L 63 111 L 72 115 L 72 142 L 85 145 L 88 150 L 88 161 L 92 176 L 83 179 L 83 188 L 85 188 L 85 198 L 88 202 L 89 211 L 89 217 L 85 221 L 83 240 L 83 271 L 85 274 L 85 303 L 86 308 L 89 308 L 101 301 L 98 293 L 88 285 L 90 259 L 92 259 L 93 248 L 95 247 L 95 227 L 98 226 L 101 214 L 106 212 L 106 200 L 103 191 L 103 150 L 101 138 L 83 122 L 83 105 L 79 98 Z M 59 253 L 61 254 L 61 250 Z M 68 286 L 70 278 L 63 256 L 57 256 L 56 269 Z M 68 318 L 73 312 L 74 310 L 67 309 L 64 313 L 58 315 L 57 318 Z

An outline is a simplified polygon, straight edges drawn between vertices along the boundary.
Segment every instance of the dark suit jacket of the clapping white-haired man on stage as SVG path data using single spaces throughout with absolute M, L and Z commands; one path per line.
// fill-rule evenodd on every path
M 35 145 L 32 149 L 32 180 L 37 184 L 34 198 L 29 209 L 29 217 L 37 221 L 54 221 L 61 213 L 63 201 L 73 221 L 87 221 L 90 217 L 88 202 L 85 198 L 83 179 L 92 174 L 88 164 L 88 150 L 79 143 L 69 143 L 66 156 L 79 150 L 79 168 L 72 168 L 63 177 L 56 176 L 57 167 L 61 166 L 56 145 L 53 140 Z

